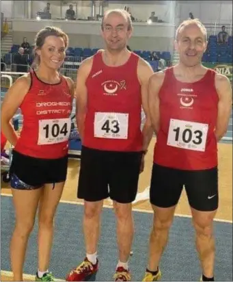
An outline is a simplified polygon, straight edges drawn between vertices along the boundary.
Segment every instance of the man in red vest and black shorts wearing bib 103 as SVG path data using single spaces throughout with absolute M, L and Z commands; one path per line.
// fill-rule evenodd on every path
M 161 277 L 159 262 L 183 185 L 193 216 L 202 280 L 214 281 L 217 142 L 228 128 L 232 91 L 227 77 L 202 66 L 206 39 L 206 28 L 199 20 L 181 23 L 175 42 L 180 62 L 150 79 L 150 118 L 157 136 L 150 185 L 155 216 L 143 281 Z

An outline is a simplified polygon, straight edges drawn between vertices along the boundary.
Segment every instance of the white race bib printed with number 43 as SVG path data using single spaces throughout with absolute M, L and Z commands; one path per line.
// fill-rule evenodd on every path
M 110 139 L 128 138 L 128 114 L 96 112 L 94 137 Z

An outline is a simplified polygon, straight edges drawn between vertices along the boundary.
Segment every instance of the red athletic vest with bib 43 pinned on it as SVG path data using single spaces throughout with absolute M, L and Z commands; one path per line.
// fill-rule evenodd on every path
M 87 77 L 87 114 L 83 145 L 103 151 L 141 151 L 141 86 L 139 57 L 131 53 L 126 64 L 106 66 L 102 53 L 93 58 Z

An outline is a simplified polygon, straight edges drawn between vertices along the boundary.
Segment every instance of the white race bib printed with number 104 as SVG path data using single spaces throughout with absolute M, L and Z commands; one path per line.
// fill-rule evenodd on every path
M 70 136 L 70 118 L 39 120 L 38 145 L 57 144 Z

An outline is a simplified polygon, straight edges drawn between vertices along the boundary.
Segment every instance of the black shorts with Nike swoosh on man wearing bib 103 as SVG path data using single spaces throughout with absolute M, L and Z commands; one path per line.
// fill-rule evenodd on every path
M 214 211 L 219 205 L 218 169 L 178 170 L 153 165 L 150 183 L 150 203 L 157 207 L 172 207 L 179 201 L 183 186 L 189 205 L 199 211 Z

